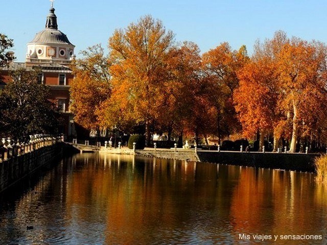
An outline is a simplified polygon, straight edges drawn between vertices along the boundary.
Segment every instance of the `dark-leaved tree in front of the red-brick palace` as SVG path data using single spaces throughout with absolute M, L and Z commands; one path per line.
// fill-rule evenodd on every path
M 49 88 L 38 82 L 38 70 L 19 69 L 0 91 L 0 135 L 29 139 L 29 135 L 58 133 L 59 112 L 47 98 Z

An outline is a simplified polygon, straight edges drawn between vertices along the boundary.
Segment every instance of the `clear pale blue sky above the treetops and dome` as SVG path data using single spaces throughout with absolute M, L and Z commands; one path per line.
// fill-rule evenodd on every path
M 0 33 L 14 40 L 16 61 L 25 61 L 26 44 L 44 29 L 49 0 L 1 0 Z M 102 43 L 115 29 L 150 14 L 173 31 L 177 42 L 193 41 L 205 53 L 227 41 L 234 50 L 285 31 L 289 37 L 327 43 L 327 1 L 303 0 L 55 0 L 58 29 L 75 54 Z M 79 57 L 79 56 L 78 56 Z

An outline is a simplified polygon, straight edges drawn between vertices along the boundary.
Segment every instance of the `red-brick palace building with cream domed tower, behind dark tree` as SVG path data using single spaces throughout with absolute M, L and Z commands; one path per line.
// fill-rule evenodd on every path
M 69 106 L 71 104 L 69 84 L 74 79 L 69 65 L 75 58 L 74 48 L 75 45 L 58 30 L 57 16 L 52 3 L 50 13 L 46 17 L 45 28 L 27 43 L 26 61 L 12 62 L 9 67 L 0 68 L 0 86 L 5 86 L 10 80 L 11 70 L 38 68 L 41 71 L 39 82 L 50 87 L 49 100 L 56 103 L 62 111 L 64 123 L 61 133 L 65 136 L 76 135 L 73 113 Z

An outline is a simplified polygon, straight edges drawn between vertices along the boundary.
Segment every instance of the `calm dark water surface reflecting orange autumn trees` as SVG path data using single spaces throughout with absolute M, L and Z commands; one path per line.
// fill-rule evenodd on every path
M 0 199 L 0 244 L 326 244 L 327 189 L 314 177 L 76 155 Z M 321 239 L 280 237 L 305 234 Z

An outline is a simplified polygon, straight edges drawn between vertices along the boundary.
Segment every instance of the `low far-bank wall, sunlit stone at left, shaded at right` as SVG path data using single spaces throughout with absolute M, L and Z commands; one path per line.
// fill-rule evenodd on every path
M 101 148 L 101 153 L 127 154 L 143 157 L 156 157 L 185 161 L 210 162 L 238 166 L 263 167 L 272 169 L 315 172 L 314 160 L 320 154 L 304 153 L 262 153 L 262 152 L 230 152 L 230 151 L 202 151 L 194 150 L 166 150 L 146 149 L 129 150 Z

